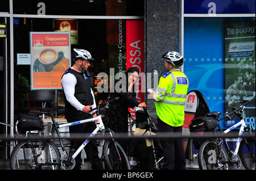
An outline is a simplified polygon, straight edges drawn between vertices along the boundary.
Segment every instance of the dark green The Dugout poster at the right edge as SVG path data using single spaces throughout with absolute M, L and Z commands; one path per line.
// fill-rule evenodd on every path
M 255 21 L 225 22 L 225 109 L 250 100 L 243 118 L 255 130 Z M 239 121 L 233 116 L 230 127 Z

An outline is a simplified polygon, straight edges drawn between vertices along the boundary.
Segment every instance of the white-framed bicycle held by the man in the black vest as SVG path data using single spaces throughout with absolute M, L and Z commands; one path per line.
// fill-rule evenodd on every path
M 108 107 L 107 102 L 105 104 L 101 104 L 96 109 L 97 117 L 92 119 L 86 119 L 81 121 L 75 121 L 73 123 L 66 124 L 58 124 L 56 123 L 53 112 L 55 112 L 58 108 L 41 108 L 40 112 L 48 115 L 52 119 L 52 129 L 49 132 L 49 135 L 52 136 L 53 133 L 56 133 L 60 147 L 62 152 L 60 153 L 57 146 L 53 143 L 52 140 L 56 140 L 56 138 L 46 139 L 46 140 L 29 140 L 19 142 L 18 145 L 15 146 L 14 150 L 11 153 L 10 158 L 10 168 L 11 170 L 40 170 L 40 169 L 51 169 L 51 170 L 71 170 L 75 167 L 75 158 L 76 156 L 84 149 L 84 147 L 90 141 L 90 138 L 95 136 L 96 133 L 100 132 L 102 136 L 105 135 L 105 132 L 110 134 L 112 137 L 109 140 L 105 140 L 102 150 L 102 158 L 105 161 L 105 169 L 109 170 L 130 170 L 130 163 L 125 154 L 125 151 L 118 144 L 117 141 L 113 138 L 113 132 L 110 129 L 105 129 L 103 121 L 100 115 L 101 107 Z M 94 110 L 92 110 L 94 111 Z M 91 112 L 92 113 L 92 112 Z M 90 134 L 89 138 L 87 138 L 79 149 L 69 150 L 69 154 L 67 148 L 65 148 L 63 144 L 63 140 L 60 138 L 59 128 L 69 127 L 76 124 L 88 123 L 90 121 L 98 121 L 97 128 Z

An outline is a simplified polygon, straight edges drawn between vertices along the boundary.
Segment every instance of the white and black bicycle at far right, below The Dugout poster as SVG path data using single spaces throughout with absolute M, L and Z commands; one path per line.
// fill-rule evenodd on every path
M 240 107 L 232 108 L 232 112 L 226 112 L 226 115 L 219 119 L 217 117 L 221 115 L 220 112 L 209 113 L 216 116 L 218 122 L 224 119 L 226 119 L 225 121 L 230 120 L 233 114 L 239 117 L 240 122 L 225 131 L 222 131 L 220 124 L 218 124 L 218 130 L 216 129 L 215 133 L 220 133 L 220 138 L 207 140 L 201 144 L 198 155 L 199 168 L 201 170 L 229 170 L 230 166 L 240 169 L 242 164 L 246 170 L 255 170 L 255 136 L 248 138 L 238 137 L 234 151 L 229 148 L 225 138 L 221 138 L 221 134 L 229 133 L 240 125 L 239 136 L 253 135 L 250 127 L 245 124 L 242 117 L 245 105 L 249 102 L 249 100 L 241 102 Z

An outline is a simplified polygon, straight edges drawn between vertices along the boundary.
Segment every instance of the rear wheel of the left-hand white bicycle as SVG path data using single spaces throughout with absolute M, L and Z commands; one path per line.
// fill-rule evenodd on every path
M 11 170 L 59 170 L 60 151 L 52 141 L 24 141 L 15 146 L 10 158 Z

